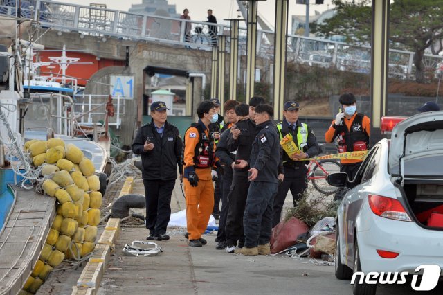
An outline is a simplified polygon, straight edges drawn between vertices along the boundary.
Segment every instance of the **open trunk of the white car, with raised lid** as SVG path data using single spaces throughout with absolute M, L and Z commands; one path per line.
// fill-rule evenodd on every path
M 443 111 L 410 117 L 392 130 L 388 169 L 415 220 L 443 230 Z

